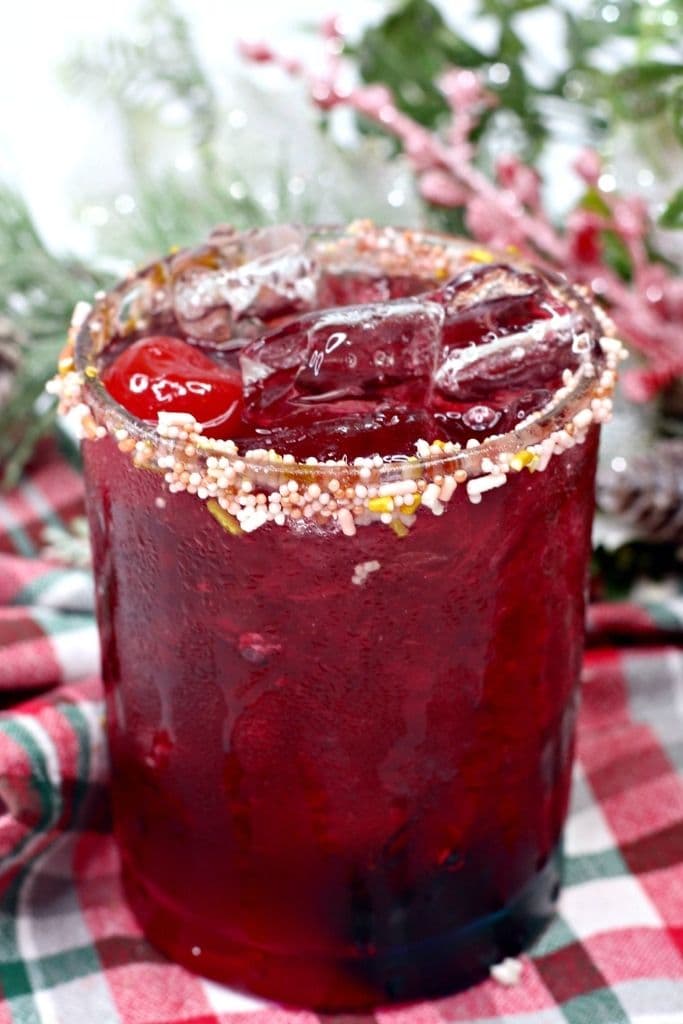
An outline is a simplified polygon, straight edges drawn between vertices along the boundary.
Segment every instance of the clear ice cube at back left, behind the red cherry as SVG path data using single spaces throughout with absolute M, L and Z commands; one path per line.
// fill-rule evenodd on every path
M 239 323 L 245 318 L 265 321 L 310 309 L 318 269 L 307 239 L 294 226 L 257 228 L 239 238 L 229 231 L 214 236 L 213 261 L 190 258 L 176 267 L 173 308 L 181 330 L 224 345 L 241 338 Z

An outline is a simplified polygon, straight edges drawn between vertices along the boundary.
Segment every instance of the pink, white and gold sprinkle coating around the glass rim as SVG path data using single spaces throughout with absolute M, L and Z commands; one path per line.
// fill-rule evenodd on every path
M 533 264 L 510 253 L 483 250 L 465 239 L 435 231 L 375 227 L 360 221 L 347 228 L 306 228 L 309 237 L 323 244 L 342 247 L 346 240 L 371 255 L 405 259 L 405 269 L 422 270 L 435 282 L 470 265 L 504 261 L 521 269 Z M 191 256 L 200 250 L 181 250 Z M 430 254 L 430 264 L 416 266 L 416 254 Z M 132 279 L 147 283 L 155 275 L 168 274 L 177 253 L 154 261 L 137 270 Z M 611 394 L 616 370 L 625 349 L 614 337 L 614 328 L 589 294 L 557 279 L 554 287 L 574 308 L 588 308 L 596 330 L 592 341 L 599 342 L 600 361 L 580 364 L 564 372 L 563 384 L 542 410 L 531 413 L 513 430 L 472 437 L 465 444 L 453 441 L 420 440 L 415 456 L 370 456 L 352 461 L 315 458 L 295 459 L 274 450 L 248 449 L 240 452 L 234 442 L 204 437 L 193 417 L 181 413 L 161 413 L 158 424 L 137 419 L 120 406 L 104 388 L 95 360 L 105 348 L 98 340 L 111 329 L 112 310 L 117 299 L 130 289 L 131 278 L 122 281 L 106 295 L 96 296 L 94 307 L 79 303 L 75 310 L 70 342 L 59 360 L 59 376 L 50 390 L 59 394 L 61 409 L 79 407 L 81 432 L 97 438 L 109 434 L 122 451 L 132 454 L 141 468 L 164 471 L 170 490 L 188 490 L 215 504 L 210 511 L 224 528 L 231 516 L 239 527 L 254 529 L 267 521 L 279 525 L 288 517 L 336 521 L 344 534 L 352 536 L 356 524 L 380 520 L 389 525 L 410 526 L 418 507 L 440 515 L 460 484 L 474 504 L 482 494 L 506 482 L 510 473 L 523 469 L 545 470 L 550 458 L 582 443 L 594 424 L 611 415 Z M 110 338 L 111 338 L 110 330 Z M 109 339 L 106 339 L 109 340 Z M 597 362 L 597 360 L 596 360 Z M 226 478 L 227 474 L 227 478 Z M 273 493 L 286 489 L 283 501 L 273 502 Z M 328 501 L 321 502 L 321 496 Z M 250 497 L 251 496 L 251 497 Z M 262 496 L 262 497 L 261 497 Z M 297 496 L 295 499 L 294 496 Z M 288 497 L 289 500 L 285 500 Z M 266 508 L 263 509 L 265 500 Z M 246 501 L 246 503 L 245 503 Z M 216 514 L 219 510 L 224 515 Z M 298 510 L 299 515 L 296 515 Z M 348 513 L 348 514 L 347 514 Z M 400 529 L 396 529 L 400 534 Z

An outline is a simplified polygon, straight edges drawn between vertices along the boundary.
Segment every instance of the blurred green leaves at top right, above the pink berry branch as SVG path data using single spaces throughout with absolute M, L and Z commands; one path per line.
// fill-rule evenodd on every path
M 536 59 L 521 35 L 520 15 L 543 7 L 563 23 L 568 60 L 539 86 L 529 75 Z M 656 5 L 594 0 L 582 11 L 561 0 L 478 0 L 473 17 L 484 16 L 498 27 L 486 50 L 452 29 L 431 0 L 401 0 L 366 31 L 351 53 L 365 81 L 388 85 L 401 110 L 430 128 L 438 127 L 446 112 L 435 84 L 445 67 L 483 72 L 499 111 L 513 116 L 517 148 L 528 160 L 539 157 L 563 118 L 579 118 L 584 133 L 595 136 L 618 121 L 660 117 L 683 144 L 683 0 Z M 607 53 L 621 66 L 605 70 Z M 504 82 L 490 76 L 494 66 L 507 70 Z M 484 143 L 498 128 L 497 112 L 487 112 L 480 126 Z

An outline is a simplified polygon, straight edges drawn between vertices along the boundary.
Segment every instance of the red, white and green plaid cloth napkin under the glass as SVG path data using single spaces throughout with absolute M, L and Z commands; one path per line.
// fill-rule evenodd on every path
M 318 1024 L 169 964 L 124 902 L 92 583 L 55 561 L 85 566 L 82 512 L 54 455 L 0 498 L 0 1024 Z M 591 609 L 565 887 L 518 982 L 360 1021 L 683 1024 L 683 600 L 660 597 Z

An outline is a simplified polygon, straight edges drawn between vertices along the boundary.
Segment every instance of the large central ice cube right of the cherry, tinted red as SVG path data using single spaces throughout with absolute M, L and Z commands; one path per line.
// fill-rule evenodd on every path
M 443 309 L 411 299 L 301 317 L 241 353 L 246 417 L 255 426 L 353 412 L 354 400 L 426 402 Z

